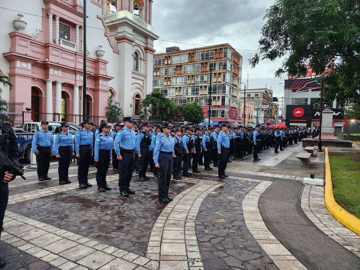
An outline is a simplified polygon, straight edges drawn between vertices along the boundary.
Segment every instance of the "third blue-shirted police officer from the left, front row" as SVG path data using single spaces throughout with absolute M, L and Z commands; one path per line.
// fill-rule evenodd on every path
M 94 142 L 94 132 L 90 130 L 91 123 L 90 119 L 84 119 L 82 121 L 84 128 L 76 131 L 75 134 L 75 150 L 78 158 L 77 179 L 80 188 L 92 186 L 87 182 Z

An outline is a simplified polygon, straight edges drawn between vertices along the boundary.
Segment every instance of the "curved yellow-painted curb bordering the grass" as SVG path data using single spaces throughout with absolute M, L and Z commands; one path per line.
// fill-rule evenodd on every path
M 334 199 L 333 183 L 328 148 L 325 148 L 325 205 L 329 212 L 344 226 L 360 235 L 360 219 L 351 215 L 344 208 L 339 206 Z

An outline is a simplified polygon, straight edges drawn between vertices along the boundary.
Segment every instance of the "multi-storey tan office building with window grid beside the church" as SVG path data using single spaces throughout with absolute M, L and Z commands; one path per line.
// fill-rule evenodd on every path
M 212 62 L 211 120 L 241 122 L 242 56 L 229 44 L 154 54 L 153 88 L 177 105 L 197 102 L 208 117 L 210 62 Z

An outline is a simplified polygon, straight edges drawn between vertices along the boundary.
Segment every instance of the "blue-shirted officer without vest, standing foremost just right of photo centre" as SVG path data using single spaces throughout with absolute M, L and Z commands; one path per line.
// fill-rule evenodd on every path
M 219 178 L 224 179 L 228 177 L 225 174 L 226 165 L 228 164 L 229 158 L 229 149 L 230 149 L 230 140 L 226 131 L 228 131 L 228 125 L 226 123 L 222 123 L 220 125 L 219 136 L 217 137 L 217 154 L 219 155 Z

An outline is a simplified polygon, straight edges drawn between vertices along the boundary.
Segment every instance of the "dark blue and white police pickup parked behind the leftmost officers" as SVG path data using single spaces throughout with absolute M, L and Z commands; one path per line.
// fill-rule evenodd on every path
M 74 123 L 68 123 L 69 132 L 73 134 L 75 138 L 75 133 L 79 127 Z M 16 138 L 18 140 L 19 146 L 19 155 L 23 159 L 23 163 L 32 163 L 32 153 L 31 153 L 31 143 L 34 133 L 40 130 L 40 122 L 26 122 L 23 125 L 22 129 L 14 129 L 16 132 Z M 53 132 L 53 138 L 55 140 L 56 134 L 58 134 L 60 129 L 60 122 L 49 122 L 49 131 Z

